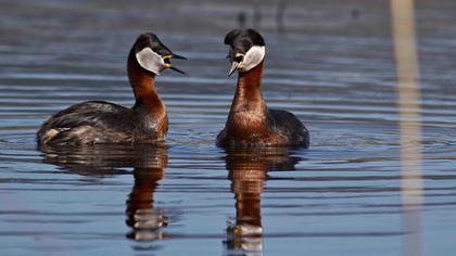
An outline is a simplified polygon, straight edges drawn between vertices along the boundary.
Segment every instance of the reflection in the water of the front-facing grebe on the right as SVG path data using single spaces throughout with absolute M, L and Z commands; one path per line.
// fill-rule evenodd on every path
M 226 168 L 236 199 L 236 218 L 227 221 L 225 255 L 263 255 L 261 197 L 267 172 L 294 170 L 300 157 L 287 148 L 227 150 Z

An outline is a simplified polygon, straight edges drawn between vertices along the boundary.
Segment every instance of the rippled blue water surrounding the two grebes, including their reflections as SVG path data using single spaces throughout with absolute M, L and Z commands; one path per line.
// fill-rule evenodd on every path
M 250 3 L 0 2 L 1 255 L 403 255 L 407 241 L 451 255 L 455 4 L 418 4 L 422 204 L 413 213 L 401 197 L 388 4 L 339 4 L 289 3 L 287 34 L 275 29 L 275 3 L 262 5 L 264 97 L 306 124 L 311 149 L 226 152 L 214 138 L 236 78 L 223 37 L 239 12 L 251 17 Z M 59 110 L 134 103 L 125 62 L 144 30 L 190 59 L 178 63 L 188 76 L 156 79 L 166 142 L 37 150 L 36 130 Z

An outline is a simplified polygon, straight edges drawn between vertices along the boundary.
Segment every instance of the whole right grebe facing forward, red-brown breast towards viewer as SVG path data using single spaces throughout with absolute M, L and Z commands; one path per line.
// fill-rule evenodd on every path
M 235 29 L 225 37 L 231 69 L 238 71 L 238 87 L 225 129 L 217 136 L 218 146 L 301 146 L 308 148 L 306 127 L 292 113 L 269 110 L 261 86 L 265 41 L 254 29 Z

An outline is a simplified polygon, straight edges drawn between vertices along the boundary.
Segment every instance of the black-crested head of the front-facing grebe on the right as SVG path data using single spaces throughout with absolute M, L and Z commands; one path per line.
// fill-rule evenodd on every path
M 231 30 L 225 37 L 225 44 L 230 47 L 227 57 L 231 62 L 231 69 L 228 76 L 236 69 L 248 72 L 265 57 L 265 40 L 252 28 Z

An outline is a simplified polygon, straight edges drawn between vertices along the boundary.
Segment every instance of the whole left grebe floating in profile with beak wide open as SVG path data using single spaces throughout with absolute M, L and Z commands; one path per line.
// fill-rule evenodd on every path
M 164 140 L 168 130 L 166 105 L 155 89 L 155 75 L 172 66 L 174 54 L 152 33 L 138 37 L 127 61 L 136 103 L 131 108 L 105 101 L 72 105 L 51 116 L 37 132 L 39 145 L 135 143 Z

